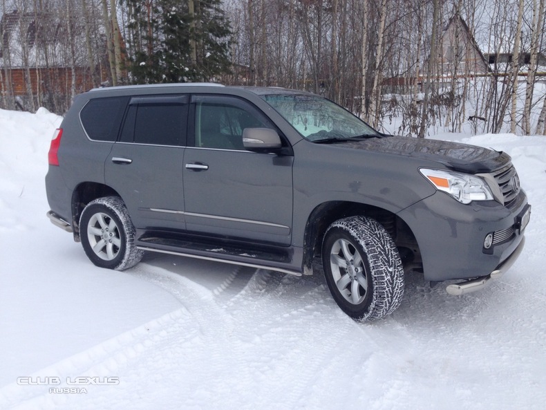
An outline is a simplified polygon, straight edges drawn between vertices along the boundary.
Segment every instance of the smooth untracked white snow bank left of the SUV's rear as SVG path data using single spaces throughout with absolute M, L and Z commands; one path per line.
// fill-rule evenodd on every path
M 46 218 L 47 153 L 61 120 L 0 109 L 0 386 L 179 306 L 157 286 L 90 266 Z

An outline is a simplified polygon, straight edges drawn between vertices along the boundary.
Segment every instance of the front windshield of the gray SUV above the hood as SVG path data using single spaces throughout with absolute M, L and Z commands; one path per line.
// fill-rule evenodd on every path
M 341 106 L 314 94 L 262 95 L 301 136 L 328 142 L 378 137 L 379 133 Z

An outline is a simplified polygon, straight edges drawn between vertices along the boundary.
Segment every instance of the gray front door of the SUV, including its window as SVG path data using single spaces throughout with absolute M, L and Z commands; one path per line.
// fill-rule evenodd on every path
M 279 132 L 274 124 L 241 98 L 194 95 L 189 125 L 183 169 L 187 230 L 290 245 L 293 156 L 243 147 L 245 128 Z

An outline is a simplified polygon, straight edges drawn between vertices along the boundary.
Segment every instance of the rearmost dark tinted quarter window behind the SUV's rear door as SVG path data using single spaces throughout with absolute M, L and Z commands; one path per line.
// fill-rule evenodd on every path
M 94 98 L 79 113 L 87 136 L 95 141 L 115 141 L 128 97 Z

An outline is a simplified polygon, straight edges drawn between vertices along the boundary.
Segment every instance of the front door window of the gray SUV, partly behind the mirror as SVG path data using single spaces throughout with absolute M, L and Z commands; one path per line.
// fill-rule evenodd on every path
M 254 107 L 232 97 L 196 97 L 195 146 L 243 150 L 245 128 L 272 128 Z

